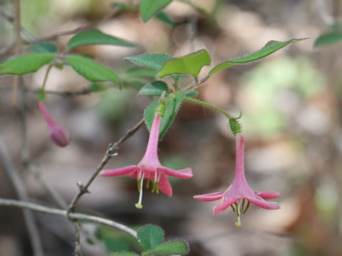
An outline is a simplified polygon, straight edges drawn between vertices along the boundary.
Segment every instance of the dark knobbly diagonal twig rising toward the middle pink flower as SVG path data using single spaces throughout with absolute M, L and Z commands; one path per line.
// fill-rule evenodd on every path
M 78 203 L 78 201 L 80 200 L 81 196 L 83 196 L 83 194 L 85 193 L 89 193 L 88 188 L 90 186 L 90 184 L 93 182 L 93 180 L 96 178 L 96 176 L 98 176 L 98 173 L 103 169 L 103 166 L 105 166 L 105 164 L 108 163 L 108 160 L 115 156 L 116 153 L 118 152 L 119 147 L 130 137 L 133 136 L 133 134 L 135 134 L 135 132 L 137 132 L 140 127 L 142 127 L 142 124 L 144 124 L 144 119 L 141 119 L 138 124 L 135 124 L 135 126 L 128 130 L 128 132 L 126 132 L 125 136 L 121 137 L 118 142 L 115 142 L 114 144 L 109 144 L 108 145 L 108 149 L 105 152 L 105 156 L 103 156 L 102 161 L 100 162 L 100 164 L 98 164 L 97 168 L 95 169 L 94 173 L 92 176 L 90 176 L 90 178 L 88 179 L 88 181 L 86 182 L 85 185 L 83 185 L 82 183 L 78 183 L 78 194 L 73 198 L 73 201 L 70 203 L 69 207 L 68 207 L 68 213 L 72 213 L 75 208 L 76 208 L 76 204 Z

